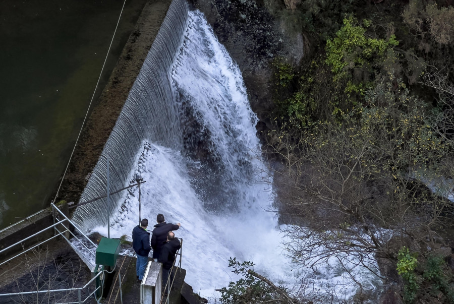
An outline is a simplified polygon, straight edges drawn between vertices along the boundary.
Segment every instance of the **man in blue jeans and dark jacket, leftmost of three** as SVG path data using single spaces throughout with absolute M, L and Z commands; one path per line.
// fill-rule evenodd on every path
M 148 227 L 148 220 L 144 218 L 140 222 L 140 226 L 133 229 L 133 248 L 137 254 L 136 274 L 137 279 L 142 281 L 145 267 L 148 263 L 148 254 L 150 253 L 150 232 L 146 229 Z

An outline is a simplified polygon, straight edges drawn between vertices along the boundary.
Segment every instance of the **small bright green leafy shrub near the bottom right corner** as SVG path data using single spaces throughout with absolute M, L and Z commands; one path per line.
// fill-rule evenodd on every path
M 405 282 L 404 301 L 411 303 L 415 300 L 419 286 L 416 281 L 415 268 L 418 261 L 410 254 L 407 247 L 402 247 L 398 255 L 397 271 Z

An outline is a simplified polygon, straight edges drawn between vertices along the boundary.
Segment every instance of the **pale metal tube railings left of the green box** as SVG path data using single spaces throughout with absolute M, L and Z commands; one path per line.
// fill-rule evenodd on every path
M 53 225 L 50 225 L 49 227 L 46 227 L 26 238 L 16 242 L 15 244 L 8 246 L 7 248 L 1 250 L 0 255 L 2 253 L 7 252 L 10 249 L 13 249 L 16 246 L 21 245 L 23 251 L 21 253 L 15 255 L 14 257 L 0 263 L 0 266 L 12 261 L 13 259 L 20 257 L 21 255 L 29 252 L 30 250 L 33 250 L 33 249 L 45 244 L 46 242 L 48 242 L 51 239 L 54 239 L 58 236 L 62 236 L 68 242 L 68 244 L 75 250 L 75 252 L 78 254 L 78 256 L 87 264 L 87 266 L 90 268 L 91 272 L 94 272 L 95 269 L 94 269 L 93 263 L 83 255 L 83 253 L 74 245 L 74 242 L 80 243 L 80 245 L 82 245 L 82 247 L 86 249 L 86 252 L 88 252 L 89 255 L 92 255 L 93 258 L 95 258 L 95 252 L 93 249 L 96 249 L 97 246 L 57 206 L 55 206 L 53 203 L 51 203 L 50 205 L 51 205 L 52 212 L 53 212 L 53 219 L 54 219 Z M 74 229 L 77 230 L 79 234 L 78 235 L 74 234 L 70 229 L 71 227 L 74 227 Z M 53 236 L 48 237 L 45 240 L 39 241 L 38 244 L 32 246 L 31 248 L 25 249 L 23 247 L 23 244 L 26 240 L 36 237 L 36 236 L 40 235 L 41 233 L 43 233 L 49 229 L 52 229 L 52 228 L 54 229 L 54 232 L 55 232 Z M 67 235 L 72 235 L 73 238 L 75 238 L 77 241 L 73 240 L 73 242 L 71 242 L 69 240 L 69 238 L 67 237 Z M 87 247 L 86 244 L 91 244 L 93 247 L 90 249 Z M 99 277 L 101 276 L 102 273 L 103 273 L 103 271 L 97 272 L 96 275 L 94 275 L 90 279 L 90 281 L 88 281 L 82 287 L 50 289 L 50 286 L 47 286 L 48 288 L 44 289 L 44 290 L 2 293 L 2 294 L 0 294 L 0 297 L 23 296 L 23 295 L 33 295 L 33 294 L 38 295 L 38 294 L 50 294 L 50 293 L 66 293 L 64 298 L 70 299 L 71 301 L 69 301 L 69 302 L 64 301 L 64 302 L 61 302 L 60 304 L 76 304 L 76 303 L 81 304 L 81 303 L 85 303 L 92 296 L 95 296 L 95 298 L 96 298 L 96 292 L 101 288 L 102 284 L 97 284 L 99 286 L 94 285 L 92 292 L 90 292 L 90 289 L 91 289 L 90 287 L 91 287 L 91 285 L 95 284 L 97 279 L 100 279 Z M 46 286 L 46 285 L 44 285 L 44 286 Z M 87 290 L 87 293 L 89 293 L 89 294 L 84 299 L 82 299 L 82 295 L 85 293 L 84 292 L 85 290 Z M 71 293 L 74 294 L 72 297 L 69 296 Z M 74 298 L 76 297 L 76 294 L 77 294 L 77 300 L 75 301 Z

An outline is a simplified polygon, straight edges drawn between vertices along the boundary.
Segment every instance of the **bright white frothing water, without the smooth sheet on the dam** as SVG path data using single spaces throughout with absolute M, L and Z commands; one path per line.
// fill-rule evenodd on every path
M 216 161 L 224 167 L 219 174 L 230 183 L 226 187 L 235 190 L 232 196 L 237 208 L 223 212 L 205 210 L 201 189 L 194 183 L 197 177 L 193 176 L 193 172 L 203 172 L 197 170 L 206 166 L 203 160 L 145 140 L 143 150 L 138 151 L 137 165 L 130 172 L 131 180 L 126 183 L 135 183 L 135 173 L 146 181 L 140 194 L 141 218 L 149 219 L 149 229 L 158 213 L 164 214 L 167 222 L 182 224 L 176 231 L 176 236 L 183 238 L 182 267 L 187 270 L 186 281 L 202 296 L 216 295 L 214 289 L 238 279 L 228 267 L 228 260 L 233 257 L 253 261 L 256 271 L 277 284 L 293 285 L 300 272 L 292 271 L 291 260 L 282 255 L 284 235 L 275 213 L 267 211 L 272 191 L 269 184 L 260 183 L 269 177 L 255 158 L 260 155 L 257 118 L 250 109 L 238 66 L 199 11 L 189 13 L 189 26 L 172 79 L 175 96 L 180 98 L 176 102 L 190 104 L 199 123 L 209 131 L 214 147 L 211 152 L 217 153 Z M 262 173 L 250 174 L 249 169 Z M 219 206 L 224 199 L 229 198 L 219 197 Z M 118 203 L 111 217 L 110 236 L 130 235 L 138 222 L 139 192 L 135 187 L 125 192 Z M 102 224 L 90 230 L 107 234 Z M 344 297 L 350 297 L 357 287 L 349 285 L 349 275 L 336 263 L 326 261 L 320 265 L 320 273 L 311 273 L 310 277 L 321 293 L 342 292 Z M 372 280 L 365 273 L 357 271 L 355 275 Z

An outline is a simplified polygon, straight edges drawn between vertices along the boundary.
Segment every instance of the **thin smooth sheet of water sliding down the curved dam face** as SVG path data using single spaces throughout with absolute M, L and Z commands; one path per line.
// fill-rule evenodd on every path
M 80 202 L 106 193 L 106 158 L 109 156 L 110 189 L 121 189 L 137 162 L 137 151 L 144 139 L 178 148 L 182 138 L 179 115 L 173 103 L 171 67 L 187 27 L 188 5 L 174 0 L 154 39 L 145 62 L 131 88 L 120 116 L 113 128 L 102 155 L 96 163 Z M 112 195 L 119 202 L 122 194 Z M 107 221 L 107 199 L 77 208 L 73 219 L 88 229 Z M 115 206 L 110 213 L 115 212 Z

